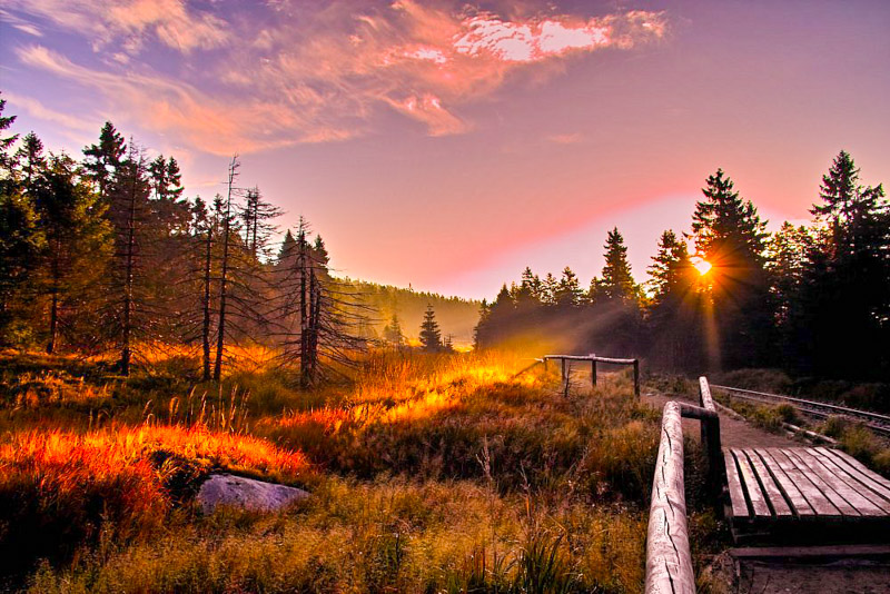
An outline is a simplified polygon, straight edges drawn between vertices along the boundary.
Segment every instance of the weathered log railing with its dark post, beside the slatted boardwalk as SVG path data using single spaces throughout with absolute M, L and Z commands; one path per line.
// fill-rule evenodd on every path
M 720 485 L 720 417 L 714 409 L 708 380 L 699 379 L 702 406 L 679 402 L 664 405 L 661 443 L 652 482 L 646 537 L 646 594 L 691 594 L 695 592 L 695 573 L 689 548 L 686 495 L 683 478 L 682 417 L 702 422 L 702 438 L 708 451 L 709 477 L 712 487 Z

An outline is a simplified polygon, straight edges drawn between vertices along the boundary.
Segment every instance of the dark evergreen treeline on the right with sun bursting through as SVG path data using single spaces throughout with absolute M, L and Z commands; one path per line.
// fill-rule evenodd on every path
M 590 288 L 568 268 L 560 278 L 526 268 L 483 304 L 477 345 L 642 356 L 690 373 L 890 377 L 890 207 L 880 185 L 860 182 L 849 154 L 823 176 L 809 226 L 767 232 L 722 170 L 702 192 L 691 232 L 662 235 L 645 287 L 614 229 Z

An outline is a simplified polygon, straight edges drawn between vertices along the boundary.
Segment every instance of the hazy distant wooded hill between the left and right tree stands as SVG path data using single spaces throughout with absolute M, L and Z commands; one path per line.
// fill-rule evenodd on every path
M 343 280 L 355 287 L 356 293 L 360 295 L 360 300 L 376 311 L 370 328 L 373 335 L 382 336 L 384 326 L 388 324 L 395 313 L 402 325 L 403 334 L 408 340 L 416 341 L 426 306 L 432 305 L 436 311 L 436 321 L 442 329 L 443 340 L 446 336 L 452 335 L 455 346 L 473 344 L 473 328 L 479 320 L 482 301 L 445 297 L 436 293 L 416 291 L 350 278 Z

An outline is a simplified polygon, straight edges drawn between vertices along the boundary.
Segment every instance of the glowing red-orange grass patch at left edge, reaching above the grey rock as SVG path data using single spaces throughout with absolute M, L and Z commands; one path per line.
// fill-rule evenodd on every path
M 0 574 L 63 558 L 102 535 L 123 543 L 150 534 L 214 469 L 315 478 L 298 452 L 200 426 L 12 434 L 0 443 Z

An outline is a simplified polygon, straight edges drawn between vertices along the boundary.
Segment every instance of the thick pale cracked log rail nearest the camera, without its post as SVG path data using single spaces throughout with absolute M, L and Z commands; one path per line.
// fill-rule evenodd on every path
M 646 537 L 646 594 L 694 594 L 683 484 L 681 405 L 664 405 Z

